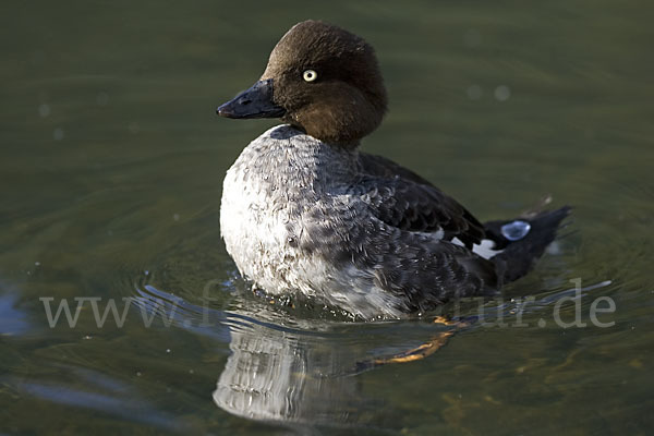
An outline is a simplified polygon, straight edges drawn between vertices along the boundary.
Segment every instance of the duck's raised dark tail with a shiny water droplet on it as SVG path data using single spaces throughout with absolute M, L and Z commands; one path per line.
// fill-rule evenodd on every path
M 484 223 L 487 238 L 495 242 L 494 249 L 501 250 L 491 257 L 500 283 L 517 280 L 529 272 L 554 241 L 570 210 L 570 206 L 564 206 L 518 219 Z

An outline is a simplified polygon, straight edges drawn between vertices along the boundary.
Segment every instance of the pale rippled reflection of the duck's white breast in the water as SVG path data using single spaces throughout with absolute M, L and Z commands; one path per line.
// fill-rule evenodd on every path
M 361 412 L 372 401 L 362 398 L 354 376 L 365 349 L 335 332 L 307 334 L 242 318 L 230 331 L 232 354 L 214 391 L 218 407 L 257 421 L 366 424 Z

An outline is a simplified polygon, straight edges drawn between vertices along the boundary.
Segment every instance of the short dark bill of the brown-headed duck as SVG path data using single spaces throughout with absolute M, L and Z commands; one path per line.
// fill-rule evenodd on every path
M 279 118 L 286 110 L 272 101 L 272 80 L 268 78 L 219 106 L 216 113 L 226 118 Z

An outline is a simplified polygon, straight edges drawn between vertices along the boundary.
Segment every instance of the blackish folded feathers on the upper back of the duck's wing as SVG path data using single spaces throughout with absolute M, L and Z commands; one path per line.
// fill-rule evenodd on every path
M 379 156 L 360 154 L 364 175 L 356 191 L 382 221 L 402 230 L 443 231 L 469 249 L 484 238 L 484 227 L 453 198 L 414 172 Z

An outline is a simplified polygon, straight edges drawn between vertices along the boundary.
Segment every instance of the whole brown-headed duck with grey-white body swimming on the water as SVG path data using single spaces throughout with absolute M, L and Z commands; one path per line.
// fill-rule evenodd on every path
M 322 21 L 292 26 L 261 78 L 220 105 L 279 119 L 226 173 L 220 232 L 253 288 L 356 319 L 488 296 L 528 274 L 570 207 L 482 223 L 428 180 L 360 149 L 387 93 L 373 47 Z

